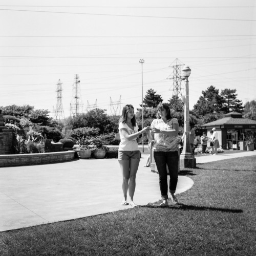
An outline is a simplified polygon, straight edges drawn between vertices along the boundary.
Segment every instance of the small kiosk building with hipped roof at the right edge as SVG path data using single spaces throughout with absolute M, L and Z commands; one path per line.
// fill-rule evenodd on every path
M 243 114 L 230 112 L 223 118 L 205 123 L 202 125 L 210 137 L 212 128 L 216 128 L 219 143 L 224 150 L 237 149 L 244 150 L 244 140 L 248 135 L 256 136 L 256 121 L 249 118 L 243 118 Z

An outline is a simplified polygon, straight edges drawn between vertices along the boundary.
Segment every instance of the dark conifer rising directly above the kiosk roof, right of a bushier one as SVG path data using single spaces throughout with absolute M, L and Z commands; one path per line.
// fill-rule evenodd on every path
M 241 100 L 237 99 L 237 90 L 224 89 L 221 91 L 221 96 L 224 98 L 225 102 L 223 104 L 223 109 L 226 113 L 236 111 L 241 113 L 243 110 L 243 103 Z

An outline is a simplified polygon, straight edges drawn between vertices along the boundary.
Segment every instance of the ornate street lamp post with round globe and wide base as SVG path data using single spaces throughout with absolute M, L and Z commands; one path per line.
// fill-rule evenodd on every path
M 184 102 L 184 142 L 183 150 L 180 154 L 180 167 L 181 168 L 196 168 L 196 159 L 194 154 L 191 152 L 189 142 L 189 97 L 188 97 L 188 77 L 191 70 L 188 66 L 185 66 L 182 71 L 182 79 L 185 80 L 186 96 Z

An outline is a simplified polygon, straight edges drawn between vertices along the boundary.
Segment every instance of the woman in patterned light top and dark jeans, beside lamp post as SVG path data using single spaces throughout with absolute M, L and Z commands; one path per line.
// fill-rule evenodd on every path
M 163 202 L 160 206 L 168 206 L 168 183 L 167 167 L 169 169 L 170 182 L 169 192 L 172 201 L 177 204 L 175 191 L 178 182 L 178 132 L 179 123 L 176 118 L 170 114 L 168 104 L 159 103 L 157 106 L 157 119 L 151 124 L 151 132 L 148 133 L 150 141 L 154 140 L 153 152 L 156 166 L 159 173 L 159 185 Z

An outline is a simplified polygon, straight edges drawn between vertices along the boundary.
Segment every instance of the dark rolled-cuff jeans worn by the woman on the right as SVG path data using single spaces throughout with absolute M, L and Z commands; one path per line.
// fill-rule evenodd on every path
M 178 151 L 174 152 L 158 152 L 154 151 L 154 158 L 157 165 L 159 173 L 159 185 L 162 200 L 167 200 L 168 198 L 168 183 L 167 183 L 167 168 L 169 169 L 170 183 L 169 191 L 170 193 L 175 193 L 176 186 L 178 182 L 178 168 L 179 168 L 179 155 Z

